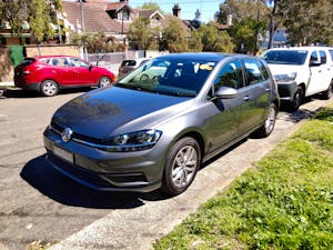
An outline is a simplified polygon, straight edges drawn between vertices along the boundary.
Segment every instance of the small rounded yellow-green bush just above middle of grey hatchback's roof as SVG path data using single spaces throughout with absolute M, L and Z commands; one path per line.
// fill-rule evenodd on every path
M 203 51 L 232 52 L 234 44 L 226 31 L 219 31 L 213 23 L 199 28 Z

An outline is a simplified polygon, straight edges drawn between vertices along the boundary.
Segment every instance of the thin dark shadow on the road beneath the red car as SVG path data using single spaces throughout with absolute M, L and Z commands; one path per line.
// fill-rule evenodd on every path
M 63 89 L 59 91 L 59 94 L 69 94 L 69 93 L 79 93 L 79 92 L 88 92 L 92 90 L 91 88 L 75 88 L 75 89 Z M 20 88 L 7 88 L 2 92 L 2 98 L 49 98 L 43 97 L 41 93 L 36 91 L 27 91 Z

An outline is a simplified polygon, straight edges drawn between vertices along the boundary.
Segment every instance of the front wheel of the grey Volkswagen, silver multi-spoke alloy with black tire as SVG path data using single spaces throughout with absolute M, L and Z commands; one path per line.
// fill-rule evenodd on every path
M 194 180 L 200 162 L 200 147 L 193 138 L 185 137 L 175 142 L 167 157 L 162 191 L 171 196 L 185 191 Z

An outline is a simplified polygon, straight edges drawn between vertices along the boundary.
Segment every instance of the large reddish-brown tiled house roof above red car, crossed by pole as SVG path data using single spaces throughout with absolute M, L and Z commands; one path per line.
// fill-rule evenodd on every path
M 129 23 L 113 20 L 105 11 L 107 1 L 88 0 L 83 2 L 83 18 L 85 32 L 121 33 L 127 32 Z M 62 2 L 63 12 L 70 22 L 70 28 L 78 32 L 78 27 L 81 24 L 80 2 Z M 123 28 L 122 28 L 123 24 Z

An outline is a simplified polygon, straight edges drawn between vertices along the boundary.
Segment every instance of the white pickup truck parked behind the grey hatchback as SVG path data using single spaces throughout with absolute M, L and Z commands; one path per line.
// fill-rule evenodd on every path
M 333 92 L 333 48 L 294 47 L 270 49 L 263 59 L 274 74 L 281 101 L 297 110 L 304 97 Z

